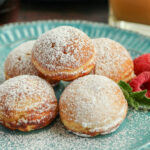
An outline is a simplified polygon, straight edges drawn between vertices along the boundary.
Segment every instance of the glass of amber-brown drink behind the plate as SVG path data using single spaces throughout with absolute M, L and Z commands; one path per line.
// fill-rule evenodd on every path
M 150 36 L 150 0 L 109 0 L 109 24 Z

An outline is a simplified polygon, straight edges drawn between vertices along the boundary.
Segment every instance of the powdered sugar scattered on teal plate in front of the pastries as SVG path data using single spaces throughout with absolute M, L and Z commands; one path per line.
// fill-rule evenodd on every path
M 96 138 L 82 138 L 69 133 L 60 120 L 39 131 L 20 133 L 10 131 L 0 126 L 1 149 L 52 149 L 52 150 L 127 150 L 135 149 L 145 144 L 145 137 L 149 136 L 150 116 L 145 112 L 130 110 L 123 125 L 111 135 L 97 136 Z M 147 132 L 146 132 L 147 131 Z M 137 146 L 137 145 L 136 145 Z

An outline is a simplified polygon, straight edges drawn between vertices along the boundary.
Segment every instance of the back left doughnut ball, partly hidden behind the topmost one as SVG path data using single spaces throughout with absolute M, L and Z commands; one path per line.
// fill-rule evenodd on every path
M 5 61 L 5 78 L 13 78 L 19 75 L 36 75 L 44 78 L 52 85 L 55 85 L 58 81 L 52 81 L 48 77 L 42 75 L 32 64 L 31 51 L 35 40 L 25 42 L 14 50 L 12 50 Z

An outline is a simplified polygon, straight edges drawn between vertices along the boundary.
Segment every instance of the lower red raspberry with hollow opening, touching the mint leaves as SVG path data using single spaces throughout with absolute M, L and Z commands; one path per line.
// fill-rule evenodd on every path
M 133 92 L 147 90 L 146 96 L 150 97 L 150 71 L 145 71 L 133 78 L 130 82 Z

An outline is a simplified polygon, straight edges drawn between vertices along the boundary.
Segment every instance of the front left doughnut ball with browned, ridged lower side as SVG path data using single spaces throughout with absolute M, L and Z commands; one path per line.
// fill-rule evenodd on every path
M 21 75 L 0 85 L 0 122 L 9 129 L 43 128 L 57 112 L 53 88 L 38 76 Z

